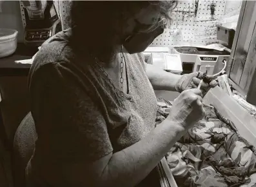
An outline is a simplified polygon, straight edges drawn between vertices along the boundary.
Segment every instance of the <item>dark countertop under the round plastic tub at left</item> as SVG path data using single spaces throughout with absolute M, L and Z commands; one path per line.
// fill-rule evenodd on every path
M 28 47 L 23 43 L 18 43 L 14 54 L 0 58 L 0 76 L 28 75 L 31 64 L 19 64 L 15 61 L 31 59 L 37 51 L 36 47 Z

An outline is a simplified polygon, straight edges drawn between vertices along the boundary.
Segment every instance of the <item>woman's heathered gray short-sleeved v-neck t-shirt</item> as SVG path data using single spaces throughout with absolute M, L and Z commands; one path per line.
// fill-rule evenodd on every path
M 72 48 L 71 36 L 72 30 L 65 30 L 48 39 L 28 79 L 38 135 L 30 167 L 35 183 L 42 185 L 64 184 L 39 172 L 46 166 L 50 172 L 54 164 L 95 161 L 131 146 L 155 127 L 157 100 L 143 55 L 124 54 L 129 93 L 123 108 L 121 93 L 99 66 Z

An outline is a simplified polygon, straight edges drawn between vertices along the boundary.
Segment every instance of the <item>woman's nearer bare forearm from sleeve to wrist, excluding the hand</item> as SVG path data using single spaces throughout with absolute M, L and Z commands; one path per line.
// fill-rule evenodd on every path
M 94 179 L 92 183 L 95 186 L 135 186 L 157 166 L 185 132 L 177 123 L 166 119 L 138 143 L 106 155 L 91 165 L 89 168 L 97 173 L 91 178 Z

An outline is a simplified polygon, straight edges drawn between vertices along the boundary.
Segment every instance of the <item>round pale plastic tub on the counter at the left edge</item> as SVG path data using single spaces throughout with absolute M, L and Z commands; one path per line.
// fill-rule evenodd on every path
M 14 54 L 17 48 L 17 30 L 0 28 L 0 58 Z

